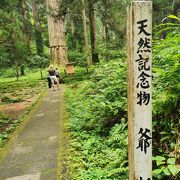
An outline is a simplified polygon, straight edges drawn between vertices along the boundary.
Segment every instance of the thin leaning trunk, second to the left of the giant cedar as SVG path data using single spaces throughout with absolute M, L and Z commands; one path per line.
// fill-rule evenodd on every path
M 28 18 L 26 13 L 26 4 L 24 0 L 19 0 L 19 6 L 20 6 L 20 14 L 22 16 L 23 21 L 23 33 L 24 33 L 24 41 L 26 43 L 27 49 L 30 52 L 30 33 L 29 33 L 29 27 L 28 27 Z

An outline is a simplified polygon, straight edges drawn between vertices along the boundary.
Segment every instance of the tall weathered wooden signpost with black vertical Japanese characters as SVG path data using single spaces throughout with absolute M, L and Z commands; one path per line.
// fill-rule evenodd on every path
M 152 2 L 128 8 L 129 180 L 152 180 Z

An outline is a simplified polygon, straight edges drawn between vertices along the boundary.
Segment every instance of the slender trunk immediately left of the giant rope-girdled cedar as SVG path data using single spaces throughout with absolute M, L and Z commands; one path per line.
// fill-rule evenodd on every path
M 32 14 L 34 18 L 34 30 L 35 30 L 37 54 L 42 55 L 43 54 L 43 39 L 41 35 L 41 23 L 39 19 L 38 0 L 33 0 Z

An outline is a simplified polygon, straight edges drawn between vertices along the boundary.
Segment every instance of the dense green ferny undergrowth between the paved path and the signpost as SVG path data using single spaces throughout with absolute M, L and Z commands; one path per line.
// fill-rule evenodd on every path
M 67 91 L 74 179 L 127 179 L 126 71 L 122 59 L 99 65 Z

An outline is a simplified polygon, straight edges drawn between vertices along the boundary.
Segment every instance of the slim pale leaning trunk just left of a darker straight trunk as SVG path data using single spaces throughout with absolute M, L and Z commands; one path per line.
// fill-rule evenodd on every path
M 89 43 L 88 43 L 88 33 L 87 33 L 87 26 L 86 26 L 86 9 L 85 9 L 84 0 L 82 0 L 82 20 L 83 20 L 86 59 L 87 59 L 87 64 L 89 66 L 92 64 L 92 61 L 91 61 L 91 57 L 90 57 L 90 50 L 89 50 Z

